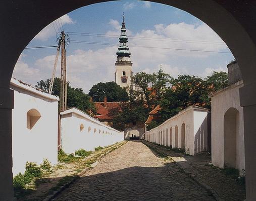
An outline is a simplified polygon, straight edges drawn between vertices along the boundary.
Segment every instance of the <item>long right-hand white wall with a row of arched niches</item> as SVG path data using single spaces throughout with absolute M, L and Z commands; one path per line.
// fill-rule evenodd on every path
M 189 155 L 209 151 L 208 113 L 208 109 L 190 106 L 158 127 L 147 131 L 146 140 L 185 149 Z

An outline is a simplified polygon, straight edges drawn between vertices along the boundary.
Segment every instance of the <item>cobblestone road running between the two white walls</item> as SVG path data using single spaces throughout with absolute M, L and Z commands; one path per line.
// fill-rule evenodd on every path
M 187 177 L 175 163 L 156 156 L 139 141 L 129 141 L 101 159 L 54 200 L 215 199 Z

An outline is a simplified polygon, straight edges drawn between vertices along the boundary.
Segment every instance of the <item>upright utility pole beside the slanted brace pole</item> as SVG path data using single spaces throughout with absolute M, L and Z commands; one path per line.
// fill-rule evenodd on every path
M 68 108 L 68 93 L 67 93 L 67 67 L 66 67 L 66 48 L 65 48 L 65 32 L 61 32 L 61 111 Z

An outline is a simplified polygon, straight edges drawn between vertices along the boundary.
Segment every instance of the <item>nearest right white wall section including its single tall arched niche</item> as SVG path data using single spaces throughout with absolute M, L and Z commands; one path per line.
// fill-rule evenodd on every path
M 245 169 L 242 80 L 212 94 L 212 162 L 215 166 Z

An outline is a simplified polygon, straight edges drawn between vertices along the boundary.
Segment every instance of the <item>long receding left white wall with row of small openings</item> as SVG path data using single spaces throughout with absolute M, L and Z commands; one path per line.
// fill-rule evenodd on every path
M 124 133 L 90 117 L 77 108 L 61 114 L 62 149 L 74 153 L 78 149 L 94 151 L 95 147 L 108 146 L 124 140 Z

